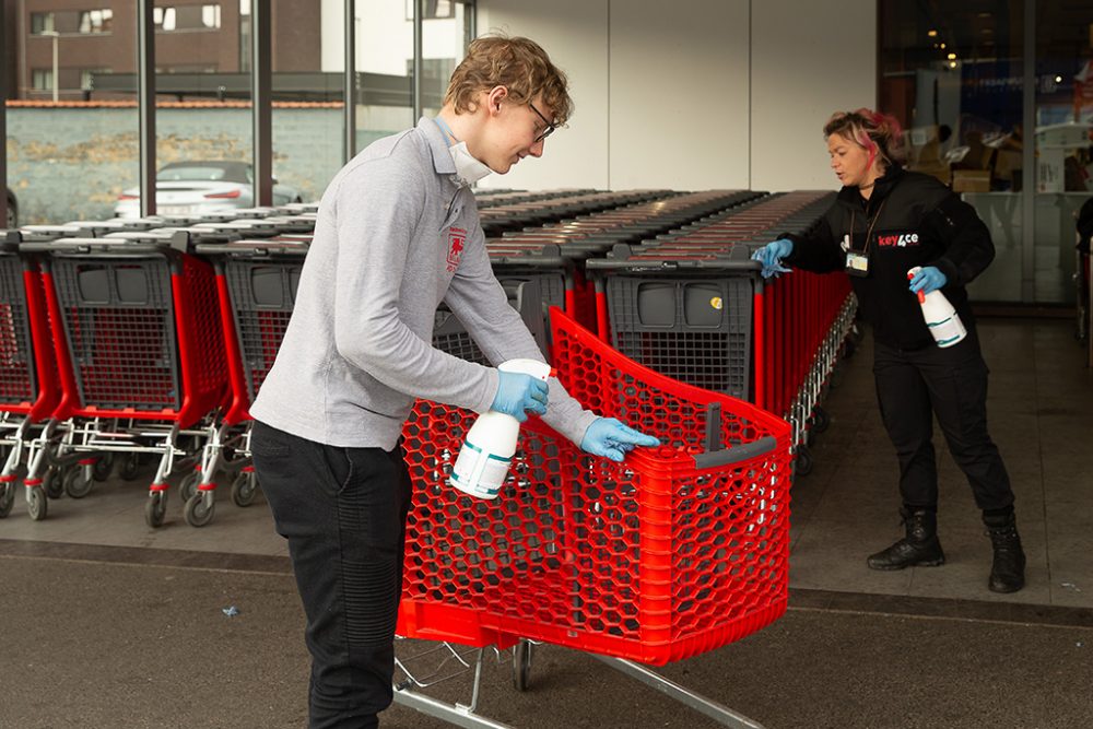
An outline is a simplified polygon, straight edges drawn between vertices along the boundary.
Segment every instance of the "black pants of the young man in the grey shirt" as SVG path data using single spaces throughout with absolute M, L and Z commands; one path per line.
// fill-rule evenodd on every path
M 307 615 L 312 729 L 390 706 L 410 475 L 400 448 L 338 448 L 255 423 L 255 470 Z

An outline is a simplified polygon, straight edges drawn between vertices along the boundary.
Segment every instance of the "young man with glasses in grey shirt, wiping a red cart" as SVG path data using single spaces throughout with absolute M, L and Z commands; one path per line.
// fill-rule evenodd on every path
M 310 727 L 378 726 L 390 705 L 410 477 L 398 447 L 415 398 L 528 412 L 593 455 L 657 445 L 598 418 L 556 379 L 433 349 L 444 301 L 494 364 L 542 360 L 485 251 L 470 185 L 542 156 L 572 109 L 527 38 L 474 40 L 444 108 L 352 160 L 322 196 L 295 308 L 251 415 L 251 448 L 307 614 Z

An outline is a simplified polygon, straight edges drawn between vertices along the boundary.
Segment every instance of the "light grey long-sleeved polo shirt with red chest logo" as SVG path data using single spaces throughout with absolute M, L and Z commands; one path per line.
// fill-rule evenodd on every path
M 543 360 L 493 275 L 474 196 L 455 172 L 436 122 L 422 118 L 334 176 L 251 416 L 308 440 L 390 450 L 414 398 L 485 412 L 497 371 L 433 348 L 442 301 L 492 363 Z M 551 380 L 551 426 L 579 444 L 595 419 Z

